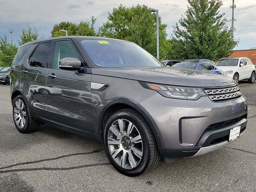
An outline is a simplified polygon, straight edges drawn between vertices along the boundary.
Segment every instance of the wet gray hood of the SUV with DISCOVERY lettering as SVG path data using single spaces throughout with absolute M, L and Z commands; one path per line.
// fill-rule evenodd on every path
M 92 68 L 92 74 L 176 86 L 213 87 L 236 84 L 228 76 L 170 67 Z

